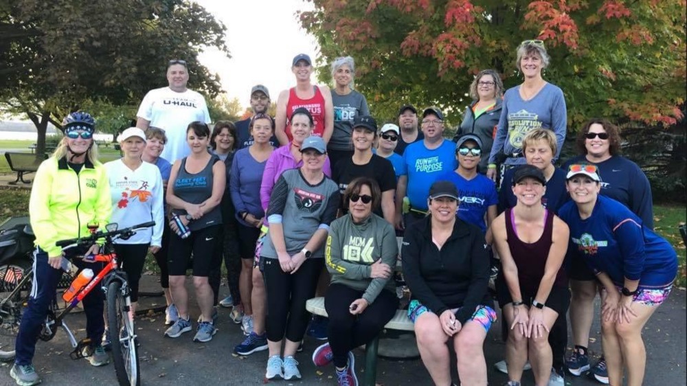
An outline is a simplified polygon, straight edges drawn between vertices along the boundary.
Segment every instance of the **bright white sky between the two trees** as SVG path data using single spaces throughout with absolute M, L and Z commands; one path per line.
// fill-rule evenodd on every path
M 227 27 L 226 43 L 232 58 L 206 49 L 199 59 L 220 76 L 229 100 L 249 107 L 251 88 L 264 84 L 276 102 L 283 89 L 293 87 L 291 59 L 300 53 L 313 60 L 319 48 L 315 37 L 300 27 L 296 11 L 311 10 L 304 0 L 196 0 Z M 257 44 L 257 46 L 256 46 Z M 314 76 L 314 75 L 313 75 Z

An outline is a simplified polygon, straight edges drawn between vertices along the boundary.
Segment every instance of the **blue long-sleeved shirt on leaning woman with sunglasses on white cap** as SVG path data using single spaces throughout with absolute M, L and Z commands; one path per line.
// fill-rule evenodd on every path
M 639 280 L 638 288 L 669 286 L 677 275 L 677 253 L 664 238 L 642 226 L 627 207 L 599 195 L 592 216 L 580 217 L 576 203 L 563 205 L 559 216 L 570 227 L 572 258 L 582 258 L 596 273 L 605 272 L 613 284 Z

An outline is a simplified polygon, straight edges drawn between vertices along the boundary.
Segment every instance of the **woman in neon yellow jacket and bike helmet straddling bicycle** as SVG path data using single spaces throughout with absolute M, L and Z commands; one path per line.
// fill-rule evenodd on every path
M 34 280 L 31 297 L 24 310 L 16 337 L 16 357 L 10 376 L 19 385 L 36 385 L 41 378 L 32 364 L 38 334 L 50 306 L 55 302 L 55 291 L 62 277 L 60 264 L 63 256 L 98 253 L 98 245 L 86 251 L 62 251 L 55 245 L 58 240 L 87 236 L 87 225 L 108 223 L 112 211 L 110 187 L 102 163 L 98 161 L 98 147 L 93 146 L 95 120 L 89 113 L 67 115 L 63 123 L 65 137 L 52 157 L 43 161 L 36 172 L 31 190 L 29 212 L 31 227 L 36 234 L 34 252 Z M 88 267 L 95 274 L 102 263 L 74 261 L 79 268 Z M 109 363 L 101 341 L 105 330 L 103 319 L 104 295 L 96 286 L 82 299 L 86 313 L 86 333 L 91 345 L 82 354 L 93 366 Z

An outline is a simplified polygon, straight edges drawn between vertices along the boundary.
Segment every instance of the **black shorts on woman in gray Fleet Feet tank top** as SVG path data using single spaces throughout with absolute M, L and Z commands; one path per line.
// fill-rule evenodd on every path
M 170 276 L 186 274 L 188 262 L 193 253 L 193 275 L 207 277 L 212 268 L 212 258 L 218 247 L 217 238 L 221 236 L 222 225 L 212 225 L 192 231 L 188 238 L 182 239 L 176 232 L 170 235 L 168 266 Z

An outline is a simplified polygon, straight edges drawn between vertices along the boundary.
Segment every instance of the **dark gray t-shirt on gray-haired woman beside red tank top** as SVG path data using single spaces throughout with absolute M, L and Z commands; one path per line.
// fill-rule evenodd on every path
M 353 120 L 359 115 L 370 115 L 368 101 L 358 91 L 352 90 L 347 95 L 339 95 L 335 89 L 332 89 L 332 104 L 334 105 L 334 133 L 329 140 L 328 148 L 352 150 L 350 139 L 353 134 Z

